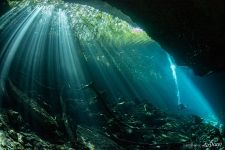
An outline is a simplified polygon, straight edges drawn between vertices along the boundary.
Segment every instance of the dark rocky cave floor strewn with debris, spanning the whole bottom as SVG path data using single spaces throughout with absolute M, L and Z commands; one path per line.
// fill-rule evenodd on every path
M 14 100 L 27 105 L 25 111 L 1 106 L 0 149 L 224 149 L 224 129 L 195 115 L 165 113 L 151 103 L 125 99 L 106 104 L 98 94 L 88 104 L 84 100 L 64 104 L 67 111 L 54 115 L 48 112 L 50 104 L 35 98 L 27 101 L 23 94 Z

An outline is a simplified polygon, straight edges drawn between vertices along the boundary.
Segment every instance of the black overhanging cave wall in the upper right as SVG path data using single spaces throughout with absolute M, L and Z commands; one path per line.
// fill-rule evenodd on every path
M 224 0 L 104 1 L 130 16 L 178 65 L 198 75 L 224 70 Z

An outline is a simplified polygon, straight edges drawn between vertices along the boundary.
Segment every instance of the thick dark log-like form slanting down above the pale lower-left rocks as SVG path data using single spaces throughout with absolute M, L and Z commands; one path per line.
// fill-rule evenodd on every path
M 37 100 L 29 98 L 16 88 L 11 81 L 8 81 L 7 84 L 9 84 L 7 93 L 10 95 L 11 99 L 15 100 L 19 111 L 25 119 L 28 119 L 27 121 L 30 125 L 33 126 L 34 129 L 46 133 L 46 136 L 60 137 L 59 133 L 55 132 L 58 127 L 56 119 L 48 114 L 48 112 L 37 103 Z M 27 112 L 29 113 L 27 114 Z M 52 140 L 57 142 L 54 139 Z

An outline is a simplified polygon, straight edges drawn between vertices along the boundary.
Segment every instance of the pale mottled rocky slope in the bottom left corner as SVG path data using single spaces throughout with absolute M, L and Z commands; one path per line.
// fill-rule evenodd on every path
M 46 139 L 32 132 L 28 125 L 22 120 L 16 126 L 9 119 L 8 114 L 14 114 L 15 120 L 20 118 L 19 112 L 13 110 L 0 111 L 0 149 L 1 150 L 32 150 L 32 149 L 46 149 L 46 150 L 68 150 L 72 149 L 70 143 L 61 145 L 52 144 Z M 16 117 L 17 116 L 17 117 Z M 17 128 L 20 126 L 20 128 Z M 23 127 L 23 128 L 21 128 Z

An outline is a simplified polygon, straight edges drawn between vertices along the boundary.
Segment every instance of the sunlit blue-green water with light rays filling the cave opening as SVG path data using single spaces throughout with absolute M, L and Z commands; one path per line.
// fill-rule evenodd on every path
M 11 79 L 21 90 L 35 91 L 57 105 L 56 97 L 62 95 L 90 98 L 90 92 L 80 89 L 94 82 L 108 103 L 149 101 L 178 113 L 184 113 L 178 110 L 184 104 L 185 113 L 217 121 L 191 78 L 142 29 L 91 7 L 67 9 L 22 5 L 0 18 L 2 93 Z

